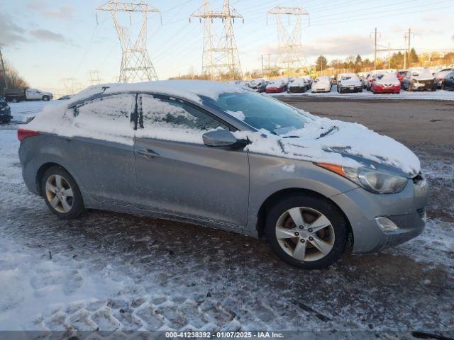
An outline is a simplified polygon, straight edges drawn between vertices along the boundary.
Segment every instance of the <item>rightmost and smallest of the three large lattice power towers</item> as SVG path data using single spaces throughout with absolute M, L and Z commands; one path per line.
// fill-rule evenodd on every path
M 275 16 L 277 24 L 279 50 L 277 67 L 287 69 L 287 75 L 289 75 L 291 69 L 301 69 L 307 64 L 301 42 L 301 17 L 308 16 L 309 18 L 309 13 L 302 7 L 276 6 L 267 11 L 267 21 L 269 15 Z M 287 30 L 284 27 L 282 23 L 283 16 L 287 16 L 289 24 L 291 16 L 297 19 L 292 30 Z

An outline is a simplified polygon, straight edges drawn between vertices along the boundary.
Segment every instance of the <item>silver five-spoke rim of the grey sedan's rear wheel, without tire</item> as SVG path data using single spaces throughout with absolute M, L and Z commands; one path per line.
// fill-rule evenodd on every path
M 45 195 L 50 206 L 58 212 L 65 213 L 71 210 L 74 197 L 70 183 L 64 177 L 49 176 L 45 182 Z

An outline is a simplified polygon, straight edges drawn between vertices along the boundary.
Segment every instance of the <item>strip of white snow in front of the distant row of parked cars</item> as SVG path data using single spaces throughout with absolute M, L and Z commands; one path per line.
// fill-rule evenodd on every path
M 336 97 L 345 99 L 419 99 L 419 100 L 433 100 L 433 101 L 454 101 L 454 91 L 437 90 L 435 92 L 430 91 L 400 91 L 400 94 L 373 94 L 371 91 L 363 90 L 358 93 L 351 94 L 339 94 L 336 85 L 333 85 L 331 92 L 323 93 L 311 93 L 308 90 L 302 94 L 287 94 L 283 92 L 281 94 L 268 94 L 270 96 L 316 96 L 319 98 L 323 97 Z

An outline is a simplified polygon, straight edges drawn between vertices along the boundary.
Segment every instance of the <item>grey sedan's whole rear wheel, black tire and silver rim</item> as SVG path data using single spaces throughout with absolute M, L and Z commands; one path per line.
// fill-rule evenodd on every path
M 85 211 L 79 186 L 61 166 L 51 166 L 44 172 L 41 191 L 50 211 L 63 220 L 77 218 Z

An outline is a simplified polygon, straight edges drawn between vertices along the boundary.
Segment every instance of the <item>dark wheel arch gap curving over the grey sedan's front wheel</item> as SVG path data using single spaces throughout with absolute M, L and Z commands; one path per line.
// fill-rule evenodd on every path
M 306 188 L 285 188 L 285 189 L 276 191 L 275 193 L 272 193 L 270 196 L 268 196 L 265 199 L 265 201 L 263 201 L 262 205 L 260 206 L 260 208 L 258 210 L 258 216 L 257 216 L 258 220 L 257 220 L 256 228 L 257 228 L 258 237 L 261 238 L 261 237 L 265 236 L 265 219 L 267 216 L 267 210 L 272 206 L 272 204 L 274 204 L 275 202 L 277 202 L 278 200 L 280 200 L 282 198 L 287 198 L 289 196 L 298 196 L 298 195 L 323 198 L 325 200 L 328 200 L 332 205 L 334 205 L 339 210 L 339 212 L 341 212 L 341 214 L 345 218 L 345 221 L 347 221 L 348 234 L 349 234 L 349 237 L 351 237 L 351 241 L 349 241 L 349 242 L 351 242 L 351 244 L 353 245 L 353 242 L 354 242 L 353 229 L 350 224 L 350 220 L 348 220 L 347 215 L 345 215 L 345 212 L 343 212 L 341 207 L 339 207 L 336 203 L 333 202 L 333 200 L 322 195 L 321 193 L 317 193 L 316 191 L 306 189 Z

